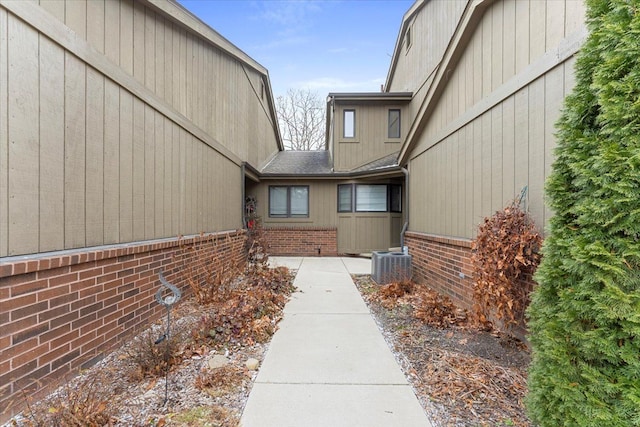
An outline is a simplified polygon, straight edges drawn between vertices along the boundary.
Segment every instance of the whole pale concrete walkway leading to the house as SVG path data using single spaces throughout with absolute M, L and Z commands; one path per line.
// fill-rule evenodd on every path
M 271 258 L 298 269 L 242 427 L 431 426 L 350 273 L 361 258 Z

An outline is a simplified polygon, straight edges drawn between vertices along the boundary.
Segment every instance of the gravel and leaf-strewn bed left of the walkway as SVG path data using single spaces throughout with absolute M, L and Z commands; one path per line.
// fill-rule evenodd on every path
M 247 361 L 262 362 L 294 276 L 262 269 L 213 292 L 207 303 L 184 297 L 172 310 L 168 340 L 158 342 L 163 318 L 47 398 L 25 396 L 27 410 L 7 425 L 238 426 L 257 376 Z M 210 365 L 216 356 L 224 356 L 224 366 Z

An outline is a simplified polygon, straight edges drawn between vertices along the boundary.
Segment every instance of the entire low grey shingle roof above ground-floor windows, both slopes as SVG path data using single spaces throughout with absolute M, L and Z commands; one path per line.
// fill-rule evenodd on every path
M 377 172 L 382 169 L 398 166 L 398 153 L 369 162 L 353 170 L 342 172 L 349 173 Z M 319 151 L 280 151 L 262 169 L 264 175 L 336 175 L 331 170 L 331 157 L 326 150 Z

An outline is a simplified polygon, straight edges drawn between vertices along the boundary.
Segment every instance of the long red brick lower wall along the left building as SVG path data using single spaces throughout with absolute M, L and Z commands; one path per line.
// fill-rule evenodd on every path
M 24 408 L 21 390 L 41 397 L 163 315 L 158 272 L 188 292 L 214 253 L 243 262 L 244 240 L 232 231 L 2 260 L 0 423 Z

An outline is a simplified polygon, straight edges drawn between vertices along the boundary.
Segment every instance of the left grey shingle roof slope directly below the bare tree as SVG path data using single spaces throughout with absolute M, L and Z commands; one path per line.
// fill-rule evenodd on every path
M 267 166 L 263 174 L 325 175 L 331 174 L 331 159 L 326 150 L 280 151 Z

